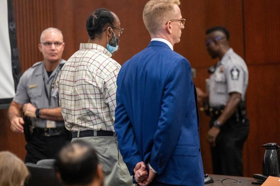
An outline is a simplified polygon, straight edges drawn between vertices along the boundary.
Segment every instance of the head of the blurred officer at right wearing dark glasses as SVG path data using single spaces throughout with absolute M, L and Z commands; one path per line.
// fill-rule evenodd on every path
M 230 48 L 230 33 L 222 26 L 215 26 L 206 30 L 205 45 L 211 58 L 222 58 Z

